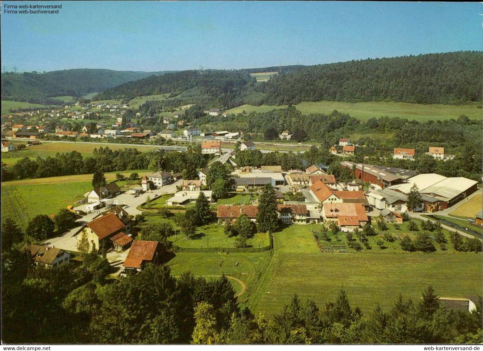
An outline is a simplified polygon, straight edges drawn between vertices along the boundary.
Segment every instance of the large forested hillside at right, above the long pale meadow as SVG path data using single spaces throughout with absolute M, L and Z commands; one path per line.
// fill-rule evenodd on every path
M 266 104 L 399 101 L 459 104 L 482 97 L 481 51 L 367 59 L 307 66 L 259 83 Z

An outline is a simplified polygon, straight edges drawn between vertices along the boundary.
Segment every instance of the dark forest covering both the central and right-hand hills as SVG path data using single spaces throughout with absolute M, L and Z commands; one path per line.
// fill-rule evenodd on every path
M 282 105 L 300 101 L 399 101 L 461 104 L 482 95 L 482 52 L 465 51 L 353 60 L 315 66 L 283 66 L 268 82 L 243 70 L 188 70 L 121 84 L 97 99 L 170 93 L 179 102 L 229 109 L 242 104 Z

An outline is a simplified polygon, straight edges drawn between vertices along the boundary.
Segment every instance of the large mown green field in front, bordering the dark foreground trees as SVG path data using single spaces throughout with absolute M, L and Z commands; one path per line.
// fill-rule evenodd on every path
M 294 293 L 322 306 L 334 300 L 341 288 L 353 306 L 365 313 L 378 303 L 388 309 L 399 294 L 418 300 L 428 285 L 440 296 L 475 298 L 483 293 L 482 254 L 454 254 L 450 243 L 447 251 L 437 253 L 402 253 L 392 246 L 381 250 L 376 245 L 360 253 L 320 253 L 312 235 L 312 230 L 318 228 L 286 227 L 274 234 L 273 252 L 183 252 L 176 253 L 169 264 L 176 274 L 189 270 L 198 275 L 224 273 L 240 278 L 248 287 L 240 297 L 242 305 L 266 314 L 280 311 Z M 400 231 L 407 232 L 405 226 Z M 345 242 L 343 233 L 339 238 Z M 393 245 L 399 246 L 398 241 Z M 221 259 L 224 262 L 220 267 Z

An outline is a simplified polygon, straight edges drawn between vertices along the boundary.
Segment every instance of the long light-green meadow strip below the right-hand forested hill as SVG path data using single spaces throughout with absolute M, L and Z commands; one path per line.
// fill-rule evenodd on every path
M 420 105 L 406 102 L 338 102 L 338 101 L 317 101 L 317 102 L 300 102 L 295 105 L 297 110 L 302 113 L 330 113 L 334 110 L 349 113 L 352 117 L 360 120 L 368 120 L 372 117 L 401 117 L 407 119 L 416 119 L 418 121 L 428 120 L 445 120 L 450 118 L 458 118 L 461 114 L 466 114 L 472 119 L 482 118 L 482 109 L 477 108 L 476 104 L 471 105 Z M 241 105 L 227 112 L 241 113 L 245 110 L 247 113 L 251 111 L 267 112 L 274 108 L 286 108 L 281 106 L 251 106 Z

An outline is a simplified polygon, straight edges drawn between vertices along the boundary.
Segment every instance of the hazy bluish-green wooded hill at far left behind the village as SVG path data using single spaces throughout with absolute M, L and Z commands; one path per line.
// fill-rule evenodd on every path
M 1 75 L 1 99 L 35 102 L 56 96 L 80 97 L 163 72 L 76 69 Z M 30 101 L 34 102 L 34 101 Z

